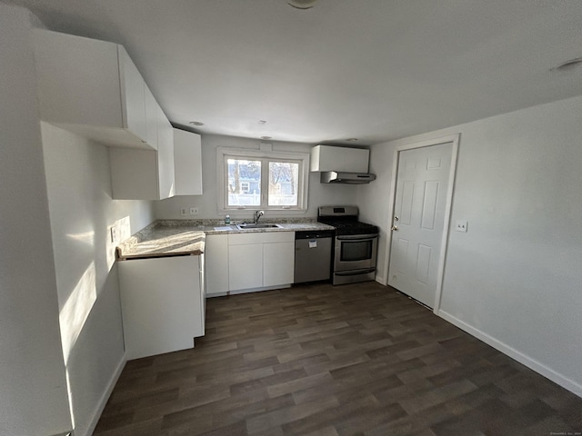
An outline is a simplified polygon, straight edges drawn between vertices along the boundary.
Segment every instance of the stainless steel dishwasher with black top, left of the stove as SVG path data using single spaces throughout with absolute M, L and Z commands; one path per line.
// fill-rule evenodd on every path
M 295 233 L 294 283 L 329 280 L 333 236 L 333 230 Z

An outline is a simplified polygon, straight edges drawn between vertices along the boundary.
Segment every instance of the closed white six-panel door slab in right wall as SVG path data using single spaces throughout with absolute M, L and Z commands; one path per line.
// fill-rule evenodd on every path
M 453 143 L 398 153 L 388 284 L 435 306 Z

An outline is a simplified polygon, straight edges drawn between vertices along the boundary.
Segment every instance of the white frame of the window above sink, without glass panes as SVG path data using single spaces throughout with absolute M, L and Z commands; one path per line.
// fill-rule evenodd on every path
M 261 204 L 256 206 L 229 206 L 228 205 L 228 172 L 227 159 L 260 160 L 261 161 Z M 268 175 L 269 162 L 299 163 L 297 177 L 297 205 L 296 206 L 269 206 L 268 205 Z M 248 213 L 248 211 L 263 210 L 274 214 L 294 214 L 307 212 L 307 193 L 309 183 L 309 154 L 300 152 L 280 152 L 271 150 L 255 150 L 244 148 L 216 148 L 216 186 L 217 209 L 219 213 Z

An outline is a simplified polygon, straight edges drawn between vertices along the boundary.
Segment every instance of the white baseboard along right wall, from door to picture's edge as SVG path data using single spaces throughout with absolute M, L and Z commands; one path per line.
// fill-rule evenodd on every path
M 537 362 L 537 360 L 532 359 L 531 357 L 527 356 L 522 352 L 518 352 L 515 348 L 510 347 L 507 343 L 498 341 L 493 336 L 489 336 L 486 332 L 481 332 L 480 330 L 476 329 L 475 327 L 467 324 L 467 322 L 459 320 L 457 317 L 451 315 L 450 313 L 444 312 L 442 310 L 438 311 L 438 316 L 450 322 L 451 324 L 456 325 L 459 329 L 464 330 L 465 332 L 475 336 L 477 339 L 487 343 L 487 345 L 491 345 L 496 350 L 507 354 L 507 356 L 511 357 L 512 359 L 516 360 L 519 363 L 523 363 L 527 366 L 527 368 L 543 375 L 547 379 L 554 381 L 555 383 L 559 384 L 563 388 L 567 389 L 575 393 L 578 397 L 582 397 L 582 385 L 568 379 L 564 375 L 555 372 L 551 368 L 548 368 L 541 362 Z

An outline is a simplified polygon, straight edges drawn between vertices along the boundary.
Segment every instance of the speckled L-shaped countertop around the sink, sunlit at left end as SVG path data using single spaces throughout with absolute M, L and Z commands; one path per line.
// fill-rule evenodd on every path
M 226 225 L 217 220 L 159 220 L 120 243 L 115 253 L 118 260 L 196 255 L 204 253 L 206 234 L 334 230 L 330 225 L 317 223 L 315 218 L 269 219 L 268 222 L 281 227 L 238 230 L 236 223 Z

